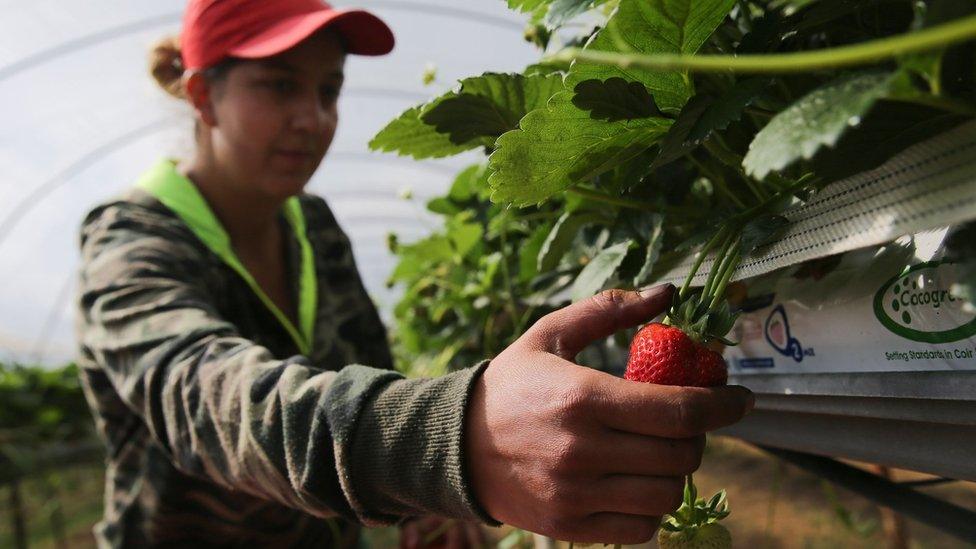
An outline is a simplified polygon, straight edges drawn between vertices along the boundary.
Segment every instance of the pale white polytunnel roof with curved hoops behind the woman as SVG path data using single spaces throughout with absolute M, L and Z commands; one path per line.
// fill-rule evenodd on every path
M 78 227 L 97 202 L 162 156 L 192 145 L 190 111 L 157 88 L 149 47 L 175 34 L 184 1 L 0 1 L 0 361 L 74 356 Z M 397 37 L 381 58 L 352 57 L 340 124 L 308 190 L 352 240 L 367 289 L 389 319 L 389 231 L 410 241 L 436 227 L 424 204 L 477 156 L 416 162 L 368 151 L 404 109 L 484 71 L 520 71 L 538 54 L 504 0 L 334 1 L 384 18 Z M 425 65 L 438 80 L 421 81 Z M 409 188 L 414 199 L 398 198 Z

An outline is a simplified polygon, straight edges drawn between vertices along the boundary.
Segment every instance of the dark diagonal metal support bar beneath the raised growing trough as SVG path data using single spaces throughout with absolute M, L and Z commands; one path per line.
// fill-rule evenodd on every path
M 976 543 L 976 511 L 923 494 L 835 459 L 759 446 L 797 467 L 842 486 L 897 513 Z

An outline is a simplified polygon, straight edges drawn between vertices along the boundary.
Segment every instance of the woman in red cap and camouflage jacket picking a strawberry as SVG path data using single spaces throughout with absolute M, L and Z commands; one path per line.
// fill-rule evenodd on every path
M 346 54 L 389 52 L 389 28 L 320 0 L 191 0 L 180 46 L 157 48 L 153 74 L 192 105 L 194 156 L 161 161 L 81 231 L 79 364 L 108 447 L 99 543 L 338 546 L 354 524 L 419 516 L 650 537 L 701 434 L 738 419 L 746 392 L 635 387 L 570 361 L 669 289 L 602 294 L 490 367 L 405 380 L 348 240 L 302 194 Z

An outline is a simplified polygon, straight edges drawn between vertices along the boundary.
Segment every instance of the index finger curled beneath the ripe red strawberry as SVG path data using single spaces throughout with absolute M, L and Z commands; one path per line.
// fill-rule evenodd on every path
M 675 387 L 606 377 L 597 420 L 629 433 L 694 437 L 738 422 L 755 403 L 752 391 L 738 385 Z

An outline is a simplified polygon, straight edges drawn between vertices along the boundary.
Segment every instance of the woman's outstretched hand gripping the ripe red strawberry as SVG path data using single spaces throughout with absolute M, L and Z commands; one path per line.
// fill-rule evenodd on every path
M 465 448 L 489 515 L 556 539 L 641 543 L 678 508 L 704 433 L 741 419 L 752 393 L 636 383 L 572 362 L 590 342 L 664 312 L 672 292 L 603 292 L 540 319 L 491 362 Z

